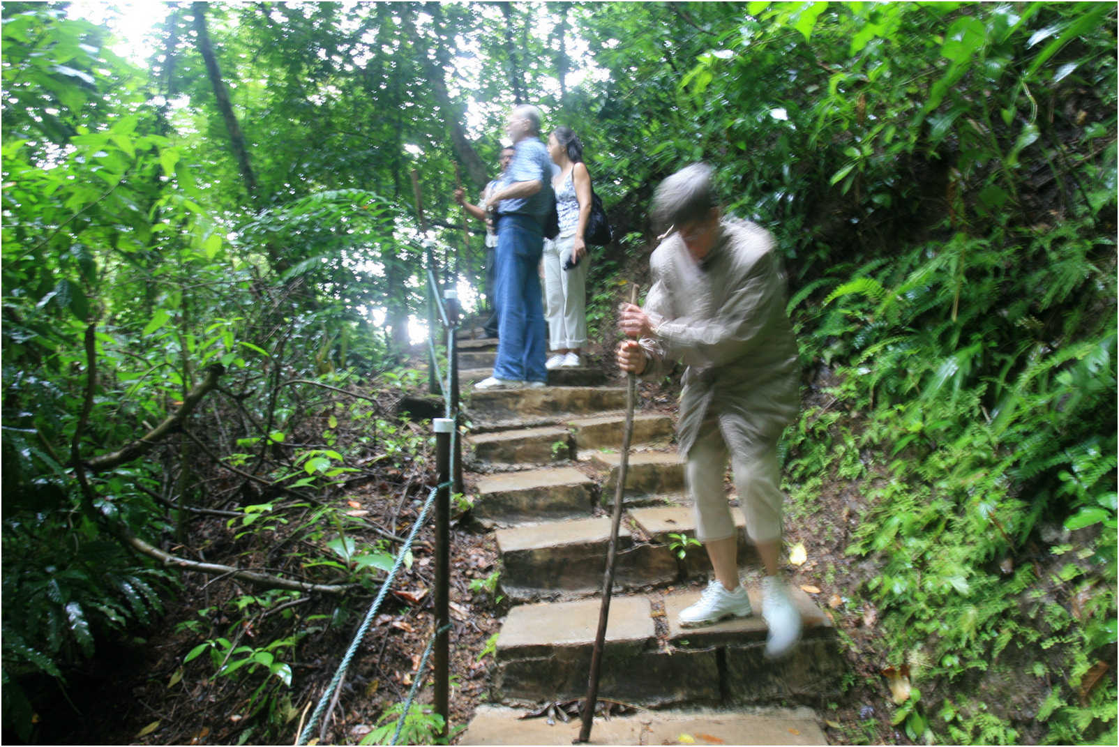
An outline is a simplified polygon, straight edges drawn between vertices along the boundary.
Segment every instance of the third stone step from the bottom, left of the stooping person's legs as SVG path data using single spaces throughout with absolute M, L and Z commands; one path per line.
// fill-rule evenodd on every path
M 602 588 L 610 543 L 610 519 L 572 519 L 497 530 L 501 587 L 509 598 L 549 594 L 593 594 Z M 668 584 L 679 574 L 665 546 L 634 545 L 629 530 L 618 533 L 614 588 Z

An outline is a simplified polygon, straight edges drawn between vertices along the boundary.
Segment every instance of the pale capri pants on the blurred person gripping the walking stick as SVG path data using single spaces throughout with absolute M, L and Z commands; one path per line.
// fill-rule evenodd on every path
M 688 494 L 695 507 L 696 538 L 708 542 L 736 533 L 723 490 L 727 457 L 750 538 L 755 542 L 780 539 L 784 493 L 777 441 L 746 444 L 744 453 L 732 455 L 714 419 L 704 422 L 685 467 Z

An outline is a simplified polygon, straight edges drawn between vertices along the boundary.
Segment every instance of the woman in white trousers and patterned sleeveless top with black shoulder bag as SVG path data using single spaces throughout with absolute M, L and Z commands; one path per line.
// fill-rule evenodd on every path
M 548 136 L 548 154 L 560 173 L 552 187 L 560 214 L 560 236 L 544 249 L 544 292 L 547 297 L 547 368 L 581 365 L 586 344 L 586 266 L 590 264 L 583 231 L 591 217 L 591 174 L 583 163 L 583 143 L 571 127 L 556 127 Z

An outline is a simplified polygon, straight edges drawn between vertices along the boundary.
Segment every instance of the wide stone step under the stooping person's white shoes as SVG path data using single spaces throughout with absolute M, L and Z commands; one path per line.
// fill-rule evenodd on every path
M 702 628 L 680 628 L 679 611 L 699 592 L 611 598 L 600 697 L 647 707 L 740 705 L 789 700 L 817 703 L 837 692 L 843 654 L 825 613 L 800 589 L 803 639 L 779 661 L 764 659 L 760 589 L 755 615 Z M 653 612 L 652 602 L 664 612 Z M 495 688 L 506 700 L 570 700 L 585 694 L 600 599 L 514 607 L 497 642 Z M 653 615 L 667 617 L 658 642 Z

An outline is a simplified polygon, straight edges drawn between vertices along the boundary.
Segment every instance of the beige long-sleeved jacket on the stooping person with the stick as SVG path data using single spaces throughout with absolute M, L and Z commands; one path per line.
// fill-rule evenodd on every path
M 724 218 L 722 235 L 697 264 L 673 234 L 652 253 L 642 338 L 643 378 L 687 363 L 677 439 L 687 456 L 702 427 L 717 418 L 727 446 L 751 453 L 775 442 L 799 407 L 797 340 L 786 313 L 784 281 L 765 229 Z

